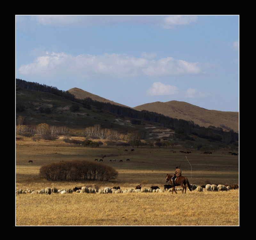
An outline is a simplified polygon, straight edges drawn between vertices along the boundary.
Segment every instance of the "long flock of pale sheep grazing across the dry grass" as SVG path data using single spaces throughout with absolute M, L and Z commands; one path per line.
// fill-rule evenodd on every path
M 232 185 L 221 185 L 219 184 L 214 185 L 214 184 L 207 184 L 207 185 L 202 185 L 202 186 L 196 186 L 196 184 L 191 184 L 191 189 L 196 190 L 197 192 L 202 192 L 203 189 L 205 188 L 205 191 L 229 191 L 231 189 L 238 189 L 237 184 L 232 184 Z M 182 188 L 175 188 L 176 191 L 182 191 Z M 132 193 L 132 192 L 171 192 L 172 191 L 172 186 L 171 184 L 165 184 L 164 189 L 160 189 L 158 186 L 152 186 L 150 188 L 141 188 L 141 184 L 137 185 L 135 189 L 125 189 L 121 190 L 120 187 L 105 187 L 104 189 L 95 189 L 91 187 L 75 187 L 73 189 L 57 189 L 55 187 L 52 188 L 45 188 L 45 189 L 40 189 L 40 190 L 31 190 L 31 189 L 25 189 L 25 190 L 16 190 L 16 194 L 46 194 L 50 195 L 52 193 L 59 193 L 59 194 L 65 194 L 65 193 L 99 193 L 99 194 L 108 194 L 108 193 Z

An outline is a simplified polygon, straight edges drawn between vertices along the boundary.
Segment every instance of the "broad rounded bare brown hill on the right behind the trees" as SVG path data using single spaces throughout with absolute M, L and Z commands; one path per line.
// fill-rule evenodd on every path
M 193 121 L 199 126 L 221 127 L 239 131 L 239 113 L 208 110 L 182 101 L 152 102 L 137 107 L 135 110 L 147 110 L 177 119 Z

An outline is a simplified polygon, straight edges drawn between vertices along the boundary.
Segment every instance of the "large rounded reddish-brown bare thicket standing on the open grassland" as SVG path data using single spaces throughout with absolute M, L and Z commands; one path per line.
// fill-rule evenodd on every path
M 108 181 L 118 176 L 116 169 L 89 161 L 61 161 L 40 168 L 39 175 L 48 181 Z

